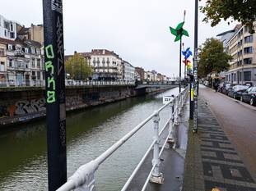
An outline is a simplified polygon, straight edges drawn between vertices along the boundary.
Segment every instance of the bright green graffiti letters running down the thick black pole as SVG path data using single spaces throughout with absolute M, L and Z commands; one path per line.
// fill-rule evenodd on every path
M 54 59 L 54 47 L 52 44 L 45 47 L 45 55 L 47 59 Z M 56 101 L 55 98 L 55 79 L 54 79 L 54 65 L 53 61 L 49 60 L 45 62 L 45 70 L 49 72 L 47 77 L 47 93 L 46 102 L 52 103 Z

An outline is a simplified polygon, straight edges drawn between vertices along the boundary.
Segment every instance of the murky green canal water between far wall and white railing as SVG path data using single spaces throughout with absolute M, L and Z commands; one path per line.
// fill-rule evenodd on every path
M 89 108 L 67 115 L 67 175 L 95 159 L 160 108 L 163 95 L 145 97 Z M 161 112 L 161 127 L 170 116 L 170 107 Z M 129 139 L 95 173 L 97 190 L 118 191 L 128 180 L 152 141 L 153 122 Z M 45 121 L 20 125 L 0 132 L 0 190 L 47 190 Z

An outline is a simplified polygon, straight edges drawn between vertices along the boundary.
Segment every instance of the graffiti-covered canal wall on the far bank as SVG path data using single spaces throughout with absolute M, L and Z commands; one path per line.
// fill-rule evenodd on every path
M 66 110 L 75 111 L 147 93 L 159 93 L 171 86 L 135 89 L 134 85 L 73 86 L 66 89 Z M 0 127 L 40 119 L 46 115 L 44 88 L 0 89 Z

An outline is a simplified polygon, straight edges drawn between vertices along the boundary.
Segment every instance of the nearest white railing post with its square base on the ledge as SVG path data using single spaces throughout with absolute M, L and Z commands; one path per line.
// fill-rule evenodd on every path
M 159 158 L 159 112 L 155 113 L 155 116 L 153 117 L 154 121 L 154 151 L 153 151 L 153 160 L 152 160 L 152 166 L 155 166 L 150 181 L 152 183 L 157 184 L 163 184 L 164 182 L 164 175 L 159 171 L 160 166 L 160 158 Z

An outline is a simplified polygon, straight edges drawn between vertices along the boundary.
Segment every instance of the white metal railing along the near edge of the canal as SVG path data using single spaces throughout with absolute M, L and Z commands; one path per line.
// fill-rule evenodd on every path
M 61 186 L 58 191 L 67 191 L 67 190 L 86 190 L 86 191 L 95 191 L 95 171 L 99 168 L 99 166 L 118 148 L 120 148 L 123 143 L 128 141 L 133 134 L 136 134 L 138 130 L 142 129 L 144 125 L 147 124 L 148 121 L 153 120 L 154 127 L 154 135 L 153 142 L 151 143 L 150 148 L 147 149 L 147 152 L 142 157 L 142 160 L 138 163 L 137 167 L 134 169 L 132 175 L 128 178 L 126 184 L 124 184 L 122 191 L 128 189 L 128 185 L 133 180 L 133 177 L 136 175 L 139 168 L 142 166 L 143 161 L 147 158 L 149 152 L 151 152 L 151 148 L 153 148 L 153 159 L 152 159 L 152 167 L 149 175 L 147 176 L 147 180 L 142 188 L 145 190 L 147 188 L 147 184 L 149 181 L 154 183 L 161 184 L 163 182 L 163 175 L 160 172 L 160 164 L 161 164 L 161 153 L 164 151 L 165 144 L 167 142 L 173 143 L 173 147 L 176 147 L 177 137 L 175 134 L 176 125 L 179 125 L 179 116 L 181 114 L 182 108 L 184 107 L 184 103 L 188 98 L 189 90 L 188 87 L 184 89 L 179 95 L 173 98 L 170 102 L 166 103 L 164 106 L 154 111 L 150 116 L 147 117 L 144 121 L 142 121 L 139 125 L 133 128 L 128 134 L 125 134 L 122 139 L 119 139 L 118 142 L 114 143 L 110 148 L 108 148 L 105 152 L 103 152 L 99 157 L 96 157 L 95 160 L 92 160 L 85 165 L 80 166 L 77 171 L 68 178 L 67 182 Z M 165 122 L 164 127 L 159 133 L 159 113 L 164 110 L 166 107 L 170 106 L 170 118 Z M 163 134 L 164 130 L 168 128 L 168 135 L 165 138 L 165 142 L 160 147 L 160 136 Z M 160 150 L 161 148 L 161 150 Z

